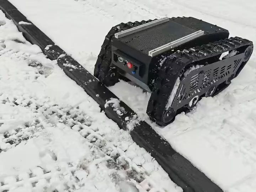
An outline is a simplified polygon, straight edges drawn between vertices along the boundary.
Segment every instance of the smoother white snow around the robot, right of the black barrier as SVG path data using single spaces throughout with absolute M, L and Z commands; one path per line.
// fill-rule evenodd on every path
M 93 73 L 101 44 L 121 22 L 193 16 L 256 42 L 255 0 L 10 0 L 56 44 Z M 192 3 L 191 3 L 192 2 Z M 145 114 L 150 94 L 127 82 L 110 90 L 228 192 L 256 189 L 256 53 L 231 85 L 160 128 Z M 122 91 L 120 91 L 122 90 Z M 132 94 L 131 94 L 132 93 Z

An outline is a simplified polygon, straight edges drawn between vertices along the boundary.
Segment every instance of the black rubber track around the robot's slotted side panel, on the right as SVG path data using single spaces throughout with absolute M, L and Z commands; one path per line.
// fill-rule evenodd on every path
M 250 54 L 248 54 L 247 60 L 244 62 L 243 61 L 244 59 L 242 59 L 243 62 L 238 65 L 239 67 L 238 67 L 237 73 L 236 73 L 235 69 L 234 69 L 235 72 L 233 71 L 235 73 L 233 75 L 237 76 L 239 74 L 239 72 L 241 71 L 241 69 L 245 66 L 245 64 L 247 63 L 247 61 L 249 60 L 249 58 L 252 54 L 253 43 L 247 39 L 242 39 L 240 37 L 230 37 L 230 38 L 226 38 L 223 40 L 215 41 L 213 43 L 204 44 L 202 46 L 192 47 L 190 49 L 184 49 L 181 52 L 176 52 L 174 54 L 171 54 L 161 66 L 158 79 L 156 79 L 156 85 L 155 85 L 155 87 L 152 91 L 151 97 L 149 99 L 149 105 L 147 108 L 147 113 L 148 113 L 149 117 L 151 117 L 153 120 L 155 120 L 161 126 L 166 126 L 167 124 L 170 123 L 170 122 L 168 122 L 168 123 L 163 122 L 162 117 L 164 116 L 164 114 L 166 112 L 165 107 L 166 107 L 169 97 L 171 95 L 172 87 L 174 87 L 174 83 L 175 83 L 179 73 L 180 73 L 179 76 L 181 76 L 181 74 L 183 73 L 182 71 L 186 71 L 188 67 L 192 66 L 193 64 L 198 64 L 198 62 L 202 62 L 203 60 L 204 60 L 204 62 L 201 64 L 204 64 L 206 59 L 208 59 L 207 62 L 209 64 L 209 65 L 207 64 L 207 66 L 211 66 L 212 64 L 215 64 L 216 62 L 219 61 L 219 56 L 222 53 L 231 52 L 232 50 L 240 49 L 239 53 L 241 51 L 240 54 L 243 53 L 243 56 L 241 56 L 241 57 L 244 57 L 244 52 L 246 50 L 245 47 L 249 47 L 249 46 L 251 47 L 251 52 L 250 52 Z M 217 61 L 216 61 L 216 58 L 217 58 Z M 226 66 L 234 63 L 234 60 L 232 60 L 232 57 L 223 59 L 222 61 L 226 63 Z M 236 60 L 235 60 L 235 62 L 236 62 Z M 241 67 L 240 67 L 240 65 L 241 65 Z M 170 67 L 170 66 L 176 66 L 176 67 L 174 68 L 174 67 Z M 204 69 L 204 67 L 202 67 L 200 69 L 203 71 L 209 70 L 209 68 Z M 211 70 L 213 71 L 214 69 L 211 69 Z M 218 75 L 220 75 L 220 74 L 218 74 Z M 221 75 L 221 76 L 225 77 L 223 75 Z M 233 76 L 233 78 L 234 78 L 234 76 Z M 190 79 L 188 81 L 190 81 Z M 222 82 L 222 84 L 215 84 L 217 86 L 217 89 L 214 92 L 214 95 L 217 95 L 219 92 L 221 92 L 223 90 L 223 89 L 220 89 L 220 87 L 223 87 L 223 84 L 225 84 L 225 83 Z M 198 82 L 198 87 L 202 87 L 202 86 L 203 85 L 201 84 L 201 82 Z M 225 88 L 226 87 L 227 86 L 225 86 Z M 185 88 L 185 90 L 186 89 L 187 89 L 187 87 Z M 190 89 L 190 88 L 188 88 L 188 89 Z M 199 95 L 200 97 L 202 97 L 204 95 L 203 91 L 204 91 L 203 89 L 200 91 L 200 95 Z M 185 94 L 188 95 L 190 93 L 185 92 Z M 197 94 L 199 94 L 199 93 L 197 93 Z M 176 103 L 175 103 L 175 101 L 176 101 Z M 188 104 L 187 102 L 188 102 L 188 100 L 179 100 L 178 101 L 176 99 L 176 100 L 174 100 L 174 107 L 175 107 L 175 105 L 177 106 L 177 105 L 181 104 L 180 106 L 183 105 L 182 107 L 186 108 L 185 105 Z M 177 110 L 177 108 L 175 110 Z M 187 113 L 189 111 L 190 110 L 187 108 L 186 110 L 182 110 L 181 112 Z M 176 112 L 173 111 L 171 117 L 175 117 L 175 113 Z M 178 114 L 178 113 L 176 113 L 176 114 Z

